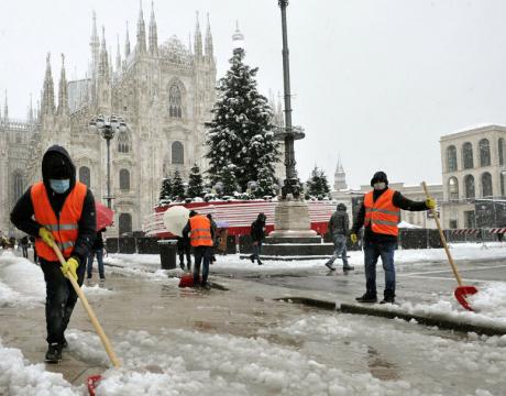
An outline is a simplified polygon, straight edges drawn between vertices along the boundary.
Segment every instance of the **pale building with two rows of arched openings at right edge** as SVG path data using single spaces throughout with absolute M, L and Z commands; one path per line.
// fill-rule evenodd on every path
M 506 211 L 504 217 L 496 213 L 484 220 L 476 208 L 491 199 L 506 198 L 505 140 L 506 127 L 501 125 L 471 128 L 441 136 L 441 160 L 446 164 L 443 227 L 504 227 Z M 462 167 L 455 167 L 454 162 Z

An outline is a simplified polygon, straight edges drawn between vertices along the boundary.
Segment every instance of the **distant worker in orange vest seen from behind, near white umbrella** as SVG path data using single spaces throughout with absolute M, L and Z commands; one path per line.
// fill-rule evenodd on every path
M 183 229 L 183 238 L 188 238 L 194 246 L 194 285 L 210 288 L 207 282 L 209 276 L 209 264 L 212 256 L 213 230 L 211 221 L 204 215 L 190 211 L 188 223 Z M 202 280 L 200 280 L 200 264 L 202 265 Z

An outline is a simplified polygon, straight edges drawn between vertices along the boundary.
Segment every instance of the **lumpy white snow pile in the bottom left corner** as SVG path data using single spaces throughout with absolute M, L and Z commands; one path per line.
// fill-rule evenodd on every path
M 0 340 L 0 395 L 74 396 L 82 387 L 73 386 L 59 373 L 50 373 L 44 364 L 30 364 L 20 350 L 6 348 Z

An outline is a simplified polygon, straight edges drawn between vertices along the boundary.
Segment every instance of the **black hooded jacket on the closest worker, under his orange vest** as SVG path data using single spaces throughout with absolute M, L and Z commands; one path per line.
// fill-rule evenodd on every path
M 67 172 L 70 178 L 70 188 L 64 194 L 54 193 L 50 186 L 50 178 L 53 177 L 53 173 L 62 172 L 62 169 L 55 170 L 52 166 L 52 160 L 58 155 L 64 158 L 63 163 L 65 165 L 63 170 Z M 51 207 L 58 217 L 65 204 L 65 199 L 76 185 L 76 167 L 64 147 L 53 145 L 47 148 L 42 158 L 42 179 L 46 187 Z M 14 209 L 12 209 L 11 212 L 11 221 L 18 229 L 29 235 L 38 237 L 38 229 L 41 228 L 41 224 L 32 218 L 34 216 L 34 209 L 31 189 L 32 187 L 30 187 L 15 204 Z M 72 253 L 72 255 L 76 257 L 80 264 L 84 263 L 84 260 L 88 256 L 88 253 L 94 244 L 96 238 L 96 227 L 95 198 L 91 190 L 88 188 L 82 205 L 82 213 L 79 219 L 79 235 L 77 237 L 77 241 Z

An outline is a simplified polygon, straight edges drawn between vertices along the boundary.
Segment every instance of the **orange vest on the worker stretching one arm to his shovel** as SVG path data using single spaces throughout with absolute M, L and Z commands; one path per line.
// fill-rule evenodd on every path
M 394 190 L 387 189 L 376 201 L 374 191 L 369 191 L 364 197 L 365 219 L 364 226 L 371 224 L 373 232 L 397 237 L 397 227 L 400 220 L 400 209 L 394 205 Z

